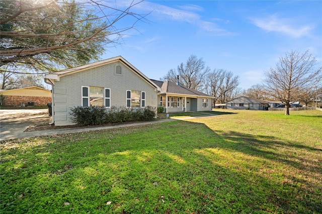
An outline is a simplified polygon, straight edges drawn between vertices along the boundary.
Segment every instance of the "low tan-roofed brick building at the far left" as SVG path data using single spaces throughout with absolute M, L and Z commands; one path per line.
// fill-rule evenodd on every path
M 51 102 L 51 91 L 38 86 L 2 90 L 0 94 L 3 95 L 2 104 L 8 106 L 43 106 Z

